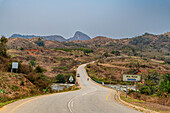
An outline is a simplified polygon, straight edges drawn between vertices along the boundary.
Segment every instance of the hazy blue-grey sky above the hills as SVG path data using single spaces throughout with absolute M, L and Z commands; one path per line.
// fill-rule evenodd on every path
M 91 38 L 170 31 L 170 0 L 0 0 L 0 35 L 13 33 Z

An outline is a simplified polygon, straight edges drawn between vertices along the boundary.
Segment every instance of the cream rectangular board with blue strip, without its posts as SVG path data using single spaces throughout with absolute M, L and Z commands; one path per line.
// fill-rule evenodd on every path
M 123 75 L 123 81 L 139 82 L 139 81 L 141 81 L 141 79 L 142 79 L 141 75 L 130 75 L 130 74 Z

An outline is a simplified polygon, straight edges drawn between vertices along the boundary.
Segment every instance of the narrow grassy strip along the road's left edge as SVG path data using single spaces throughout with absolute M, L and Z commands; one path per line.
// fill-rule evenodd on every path
M 37 95 L 33 95 L 33 96 L 23 97 L 23 98 L 20 98 L 20 99 L 10 100 L 10 101 L 7 101 L 7 102 L 0 102 L 0 110 L 2 109 L 3 106 L 8 105 L 8 104 L 13 103 L 13 102 L 16 102 L 16 101 L 19 101 L 19 100 L 22 100 L 22 99 L 27 99 L 27 98 L 37 97 L 37 96 L 42 96 L 42 95 L 55 94 L 55 93 L 63 93 L 63 92 L 69 92 L 69 91 L 76 91 L 76 90 L 79 90 L 79 89 L 80 88 L 78 88 L 78 87 L 74 88 L 74 89 L 68 88 L 66 90 L 62 90 L 62 91 L 58 91 L 58 92 L 45 93 L 45 94 L 37 94 Z

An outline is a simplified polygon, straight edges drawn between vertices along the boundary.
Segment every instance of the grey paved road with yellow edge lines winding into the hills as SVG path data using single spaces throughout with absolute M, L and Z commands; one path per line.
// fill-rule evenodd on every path
M 115 101 L 115 90 L 87 81 L 84 67 L 77 69 L 81 90 L 23 99 L 5 106 L 0 113 L 139 113 Z

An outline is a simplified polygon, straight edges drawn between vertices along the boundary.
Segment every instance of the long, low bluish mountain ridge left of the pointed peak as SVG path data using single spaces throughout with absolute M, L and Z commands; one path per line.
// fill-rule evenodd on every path
M 60 36 L 60 35 L 36 36 L 36 35 L 13 34 L 10 38 L 26 38 L 26 39 L 30 39 L 30 38 L 34 38 L 34 37 L 43 38 L 43 39 L 45 39 L 45 40 L 66 41 L 66 39 L 63 38 L 63 37 Z

